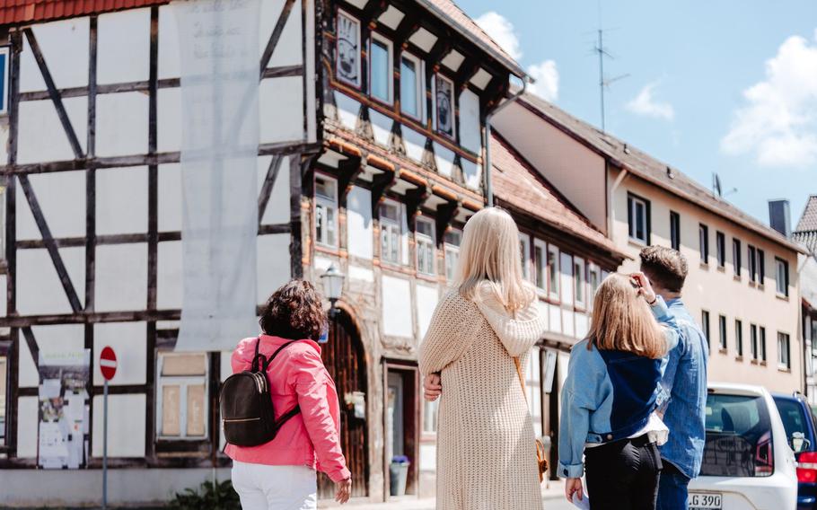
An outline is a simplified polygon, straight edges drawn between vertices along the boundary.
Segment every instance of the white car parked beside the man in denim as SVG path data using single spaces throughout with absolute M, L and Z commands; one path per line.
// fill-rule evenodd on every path
M 769 391 L 710 382 L 707 445 L 690 510 L 795 510 L 795 453 Z

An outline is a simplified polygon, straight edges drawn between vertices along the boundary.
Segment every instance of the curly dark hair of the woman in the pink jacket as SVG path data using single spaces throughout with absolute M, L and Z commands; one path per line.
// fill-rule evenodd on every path
M 267 335 L 317 341 L 326 326 L 321 294 L 311 282 L 292 280 L 269 296 L 259 324 Z

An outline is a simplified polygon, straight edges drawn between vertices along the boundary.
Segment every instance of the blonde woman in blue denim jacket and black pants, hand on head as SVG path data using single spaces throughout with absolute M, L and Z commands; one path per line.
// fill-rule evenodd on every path
M 586 474 L 591 510 L 654 510 L 668 434 L 654 411 L 663 356 L 677 343 L 675 319 L 642 273 L 604 279 L 562 389 L 558 475 L 568 501 L 584 498 Z

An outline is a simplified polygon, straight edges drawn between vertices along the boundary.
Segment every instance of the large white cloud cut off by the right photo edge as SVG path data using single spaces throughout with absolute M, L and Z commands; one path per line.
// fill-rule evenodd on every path
M 768 167 L 817 163 L 817 31 L 788 38 L 766 61 L 766 79 L 743 91 L 721 140 L 726 154 L 753 154 Z

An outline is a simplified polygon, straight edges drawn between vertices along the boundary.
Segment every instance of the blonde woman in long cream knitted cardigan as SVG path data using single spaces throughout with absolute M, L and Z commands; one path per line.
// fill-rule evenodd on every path
M 458 276 L 420 346 L 420 372 L 441 373 L 437 508 L 540 510 L 533 424 L 514 357 L 545 330 L 523 279 L 519 231 L 488 207 L 465 225 Z M 429 400 L 434 400 L 432 397 Z

